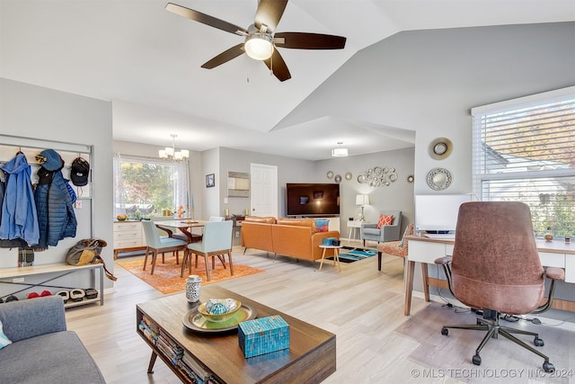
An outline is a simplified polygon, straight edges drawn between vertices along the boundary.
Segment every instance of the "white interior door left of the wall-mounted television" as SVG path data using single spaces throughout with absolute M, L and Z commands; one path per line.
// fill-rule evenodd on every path
M 278 167 L 252 164 L 250 166 L 251 216 L 278 217 Z

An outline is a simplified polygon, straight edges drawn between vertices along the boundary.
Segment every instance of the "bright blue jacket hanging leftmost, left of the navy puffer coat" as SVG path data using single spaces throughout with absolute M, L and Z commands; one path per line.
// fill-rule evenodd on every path
M 31 168 L 23 154 L 16 155 L 2 168 L 6 174 L 6 191 L 2 203 L 0 238 L 22 238 L 29 245 L 38 244 L 40 231 Z

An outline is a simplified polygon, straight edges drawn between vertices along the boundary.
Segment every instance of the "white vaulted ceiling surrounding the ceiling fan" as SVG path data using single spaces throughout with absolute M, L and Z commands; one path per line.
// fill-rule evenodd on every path
M 256 0 L 174 3 L 243 28 L 257 8 Z M 276 31 L 340 35 L 347 44 L 341 50 L 279 49 L 292 76 L 279 82 L 246 55 L 201 68 L 243 39 L 169 13 L 165 5 L 0 0 L 0 76 L 111 101 L 119 140 L 165 146 L 175 133 L 178 147 L 192 150 L 235 147 L 317 160 L 329 157 L 340 140 L 350 155 L 413 147 L 417 128 L 409 124 L 341 113 L 340 103 L 368 105 L 365 95 L 382 87 L 370 89 L 368 80 L 394 59 L 394 36 L 575 20 L 572 0 L 291 0 Z M 413 86 L 409 78 L 404 83 Z

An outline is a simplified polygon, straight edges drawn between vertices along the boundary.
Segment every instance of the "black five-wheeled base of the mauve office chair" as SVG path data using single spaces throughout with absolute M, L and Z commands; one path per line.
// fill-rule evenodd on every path
M 536 334 L 535 332 L 528 332 L 528 331 L 523 331 L 521 329 L 510 328 L 509 326 L 500 326 L 499 314 L 498 314 L 498 316 L 494 316 L 494 317 L 495 318 L 493 318 L 491 316 L 488 318 L 478 318 L 476 325 L 442 326 L 441 327 L 441 335 L 444 335 L 444 336 L 449 335 L 449 329 L 448 328 L 486 331 L 487 334 L 485 334 L 485 336 L 483 336 L 481 344 L 479 344 L 479 346 L 475 350 L 475 354 L 472 357 L 472 362 L 475 365 L 481 365 L 482 364 L 482 358 L 479 355 L 479 353 L 482 351 L 485 344 L 487 344 L 487 342 L 491 338 L 497 339 L 498 335 L 502 335 L 503 337 L 509 339 L 513 343 L 522 346 L 526 350 L 531 351 L 532 353 L 535 353 L 535 354 L 543 357 L 544 358 L 543 369 L 545 372 L 553 373 L 555 371 L 555 367 L 553 366 L 553 363 L 549 362 L 549 357 L 547 357 L 544 353 L 537 351 L 532 346 L 530 346 L 530 345 L 522 342 L 521 340 L 517 339 L 517 337 L 515 337 L 514 335 L 511 335 L 511 334 L 532 335 L 532 336 L 534 336 L 533 344 L 535 344 L 535 346 L 543 346 L 544 341 L 543 341 L 543 339 L 539 338 L 538 334 Z

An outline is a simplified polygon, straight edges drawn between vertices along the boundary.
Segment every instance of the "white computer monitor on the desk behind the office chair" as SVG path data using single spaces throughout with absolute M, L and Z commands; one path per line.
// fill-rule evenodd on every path
M 471 194 L 423 194 L 415 196 L 415 229 L 429 233 L 454 232 L 459 206 L 472 201 Z

